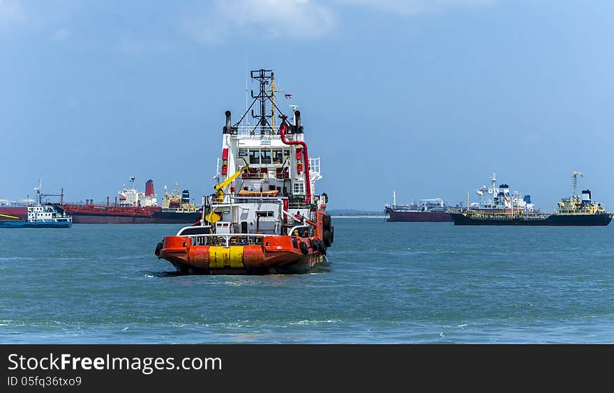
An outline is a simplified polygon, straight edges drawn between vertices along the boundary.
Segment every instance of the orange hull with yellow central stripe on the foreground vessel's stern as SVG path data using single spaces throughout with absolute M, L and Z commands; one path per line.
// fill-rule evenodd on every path
M 190 238 L 167 236 L 156 249 L 158 258 L 181 273 L 283 274 L 309 272 L 324 261 L 322 240 L 297 236 L 265 236 L 261 245 L 192 245 Z

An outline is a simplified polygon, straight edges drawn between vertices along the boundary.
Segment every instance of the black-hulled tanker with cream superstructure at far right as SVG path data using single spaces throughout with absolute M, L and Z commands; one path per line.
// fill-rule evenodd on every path
M 530 226 L 606 226 L 612 221 L 612 213 L 606 212 L 599 202 L 592 201 L 590 190 L 576 195 L 579 172 L 574 178 L 574 195 L 557 203 L 555 213 L 542 213 L 527 206 L 507 208 L 495 206 L 492 209 L 454 210 L 451 217 L 454 225 L 530 225 Z M 494 177 L 494 175 L 493 175 Z

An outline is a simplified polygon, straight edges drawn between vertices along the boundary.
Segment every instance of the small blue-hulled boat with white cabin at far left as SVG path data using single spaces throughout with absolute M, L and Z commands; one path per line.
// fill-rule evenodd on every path
M 0 228 L 70 228 L 73 217 L 64 210 L 42 203 L 40 180 L 36 190 L 36 205 L 28 206 L 28 218 L 0 214 Z M 7 219 L 8 218 L 8 219 Z

